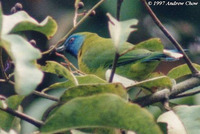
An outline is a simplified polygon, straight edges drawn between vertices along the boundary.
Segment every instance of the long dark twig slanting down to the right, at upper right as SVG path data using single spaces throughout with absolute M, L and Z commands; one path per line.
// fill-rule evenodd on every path
M 187 63 L 188 67 L 190 68 L 192 74 L 195 76 L 199 75 L 199 71 L 193 66 L 190 58 L 187 56 L 181 45 L 176 41 L 176 39 L 168 32 L 168 30 L 164 27 L 164 25 L 161 23 L 161 21 L 158 19 L 158 17 L 155 15 L 155 13 L 152 11 L 152 9 L 149 7 L 146 0 L 141 0 L 144 6 L 146 7 L 148 13 L 152 17 L 153 21 L 156 23 L 156 25 L 160 28 L 160 30 L 165 34 L 165 36 L 174 44 L 174 46 L 183 54 L 183 58 L 185 62 Z

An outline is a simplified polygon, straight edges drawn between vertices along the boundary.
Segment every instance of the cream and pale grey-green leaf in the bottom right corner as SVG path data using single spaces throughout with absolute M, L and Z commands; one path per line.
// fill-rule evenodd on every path
M 199 134 L 200 106 L 177 106 L 162 114 L 158 122 L 168 124 L 168 134 Z

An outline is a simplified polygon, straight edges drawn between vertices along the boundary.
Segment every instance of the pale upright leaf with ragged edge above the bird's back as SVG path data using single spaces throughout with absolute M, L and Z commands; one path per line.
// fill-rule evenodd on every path
M 112 17 L 109 13 L 107 13 L 109 18 L 108 28 L 110 32 L 111 39 L 115 45 L 116 50 L 127 41 L 131 32 L 136 31 L 136 28 L 132 28 L 131 26 L 137 25 L 137 19 L 131 19 L 127 21 L 119 22 L 114 17 Z

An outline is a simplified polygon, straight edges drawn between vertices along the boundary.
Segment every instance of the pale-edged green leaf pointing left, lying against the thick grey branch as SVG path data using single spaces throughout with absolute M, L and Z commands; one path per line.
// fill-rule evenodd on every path
M 155 78 L 150 78 L 144 81 L 140 81 L 131 85 L 129 88 L 142 87 L 152 93 L 159 89 L 168 88 L 171 89 L 173 86 L 172 80 L 167 76 L 160 76 Z

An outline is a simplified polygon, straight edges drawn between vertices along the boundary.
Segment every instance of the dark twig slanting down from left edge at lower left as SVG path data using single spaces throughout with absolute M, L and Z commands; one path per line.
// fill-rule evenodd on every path
M 34 119 L 34 118 L 24 114 L 24 113 L 21 113 L 21 112 L 18 112 L 18 111 L 14 111 L 9 107 L 6 107 L 6 108 L 1 108 L 0 107 L 0 110 L 5 111 L 5 112 L 7 112 L 7 113 L 9 113 L 9 114 L 11 114 L 13 116 L 19 117 L 20 119 L 25 120 L 25 121 L 35 125 L 36 127 L 41 127 L 42 125 L 44 125 L 44 122 L 36 120 L 36 119 Z

